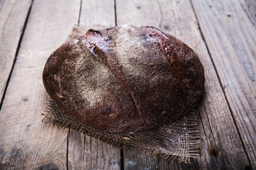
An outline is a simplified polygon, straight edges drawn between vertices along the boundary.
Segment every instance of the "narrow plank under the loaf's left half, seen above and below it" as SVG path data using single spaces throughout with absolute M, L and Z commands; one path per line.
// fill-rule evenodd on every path
M 82 1 L 81 27 L 100 27 L 96 25 L 115 25 L 114 1 Z M 86 30 L 86 29 L 85 29 Z M 68 145 L 69 169 L 121 169 L 121 153 L 87 135 L 70 130 Z

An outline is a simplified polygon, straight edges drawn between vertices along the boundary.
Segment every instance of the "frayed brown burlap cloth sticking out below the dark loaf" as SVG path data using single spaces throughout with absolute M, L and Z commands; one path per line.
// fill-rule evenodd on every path
M 86 127 L 63 114 L 50 99 L 44 112 L 43 122 L 75 129 L 127 151 L 152 154 L 166 162 L 172 162 L 178 157 L 180 162 L 189 163 L 191 158 L 199 156 L 200 134 L 195 111 L 188 112 L 184 117 L 170 124 L 133 133 L 112 133 Z

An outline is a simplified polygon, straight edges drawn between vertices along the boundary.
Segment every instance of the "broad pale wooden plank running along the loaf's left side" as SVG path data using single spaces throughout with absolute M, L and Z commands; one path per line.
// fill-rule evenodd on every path
M 0 114 L 0 169 L 67 169 L 68 130 L 42 122 L 42 71 L 79 18 L 80 0 L 35 0 Z

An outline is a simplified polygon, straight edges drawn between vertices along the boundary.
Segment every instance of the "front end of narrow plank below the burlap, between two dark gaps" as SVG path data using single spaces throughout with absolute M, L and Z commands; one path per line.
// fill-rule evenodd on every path
M 121 169 L 120 150 L 70 130 L 68 169 Z

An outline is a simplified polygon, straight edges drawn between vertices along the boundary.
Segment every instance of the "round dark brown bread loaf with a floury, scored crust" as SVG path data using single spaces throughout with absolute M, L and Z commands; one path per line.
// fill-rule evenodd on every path
M 139 131 L 195 107 L 204 69 L 174 36 L 126 25 L 89 29 L 61 45 L 46 62 L 43 83 L 77 122 L 98 130 Z

